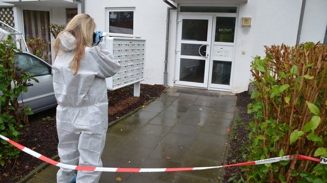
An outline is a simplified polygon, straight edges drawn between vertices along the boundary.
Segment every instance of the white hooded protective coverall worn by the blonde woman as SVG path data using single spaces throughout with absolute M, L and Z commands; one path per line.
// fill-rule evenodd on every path
M 52 67 L 53 86 L 58 102 L 58 155 L 61 163 L 102 166 L 101 155 L 108 129 L 108 97 L 105 78 L 119 71 L 120 65 L 108 50 L 86 47 L 79 69 L 73 75 L 69 64 L 76 49 L 75 37 L 65 32 L 61 49 Z M 76 182 L 98 182 L 101 172 L 78 171 Z M 74 170 L 57 173 L 57 182 L 71 182 Z

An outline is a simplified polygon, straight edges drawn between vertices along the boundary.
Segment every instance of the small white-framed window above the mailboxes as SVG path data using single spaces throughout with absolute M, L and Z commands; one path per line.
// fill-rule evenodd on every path
M 107 9 L 107 31 L 109 33 L 133 34 L 134 10 L 127 9 Z

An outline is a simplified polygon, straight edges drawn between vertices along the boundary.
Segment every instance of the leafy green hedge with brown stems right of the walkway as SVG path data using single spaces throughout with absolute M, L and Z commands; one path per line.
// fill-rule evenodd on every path
M 297 155 L 327 157 L 327 45 L 266 48 L 251 73 L 255 99 L 248 105 L 250 161 L 295 155 L 291 161 L 249 166 L 249 182 L 323 182 L 327 167 Z

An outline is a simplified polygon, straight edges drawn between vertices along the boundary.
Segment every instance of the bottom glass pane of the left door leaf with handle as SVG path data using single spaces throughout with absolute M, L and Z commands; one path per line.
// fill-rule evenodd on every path
M 205 60 L 180 59 L 179 80 L 189 82 L 204 82 Z

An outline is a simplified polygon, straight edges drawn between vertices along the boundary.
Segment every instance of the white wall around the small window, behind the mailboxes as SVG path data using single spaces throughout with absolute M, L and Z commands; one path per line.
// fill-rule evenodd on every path
M 99 30 L 108 30 L 105 27 L 106 8 L 135 8 L 133 34 L 146 39 L 145 80 L 142 83 L 147 84 L 164 82 L 166 7 L 160 1 L 85 1 L 85 13 L 94 17 Z

